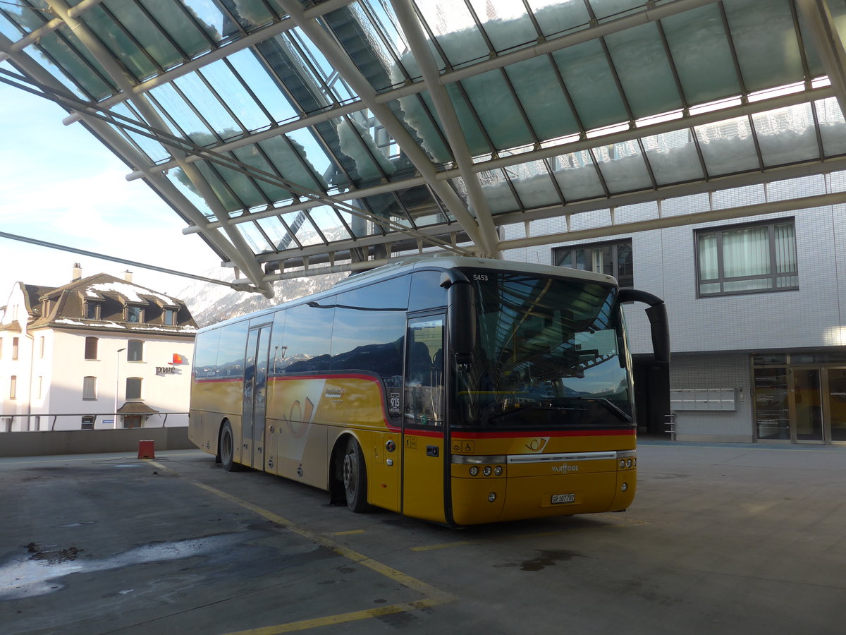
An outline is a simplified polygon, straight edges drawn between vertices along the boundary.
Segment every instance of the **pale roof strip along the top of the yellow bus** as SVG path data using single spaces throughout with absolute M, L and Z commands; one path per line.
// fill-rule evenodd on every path
M 613 276 L 605 273 L 594 273 L 592 271 L 583 271 L 582 269 L 573 269 L 568 267 L 556 267 L 553 265 L 532 264 L 530 262 L 514 262 L 508 260 L 494 260 L 492 258 L 474 258 L 452 256 L 446 254 L 431 254 L 420 256 L 409 256 L 398 258 L 394 262 L 390 262 L 382 267 L 377 267 L 362 273 L 355 273 L 349 275 L 343 280 L 338 280 L 331 289 L 320 291 L 312 295 L 303 295 L 288 302 L 277 306 L 270 306 L 266 309 L 261 309 L 253 313 L 248 313 L 239 317 L 232 317 L 223 322 L 210 324 L 201 331 L 217 329 L 225 324 L 240 322 L 244 319 L 251 319 L 259 317 L 264 313 L 276 312 L 280 306 L 296 306 L 304 301 L 320 300 L 324 297 L 329 297 L 345 290 L 354 289 L 358 286 L 371 284 L 378 280 L 395 278 L 402 273 L 410 273 L 419 269 L 453 269 L 453 268 L 482 268 L 493 269 L 498 271 L 512 271 L 523 273 L 536 273 L 541 276 L 555 276 L 558 278 L 580 279 L 588 282 L 597 282 L 600 284 L 617 285 L 617 280 Z

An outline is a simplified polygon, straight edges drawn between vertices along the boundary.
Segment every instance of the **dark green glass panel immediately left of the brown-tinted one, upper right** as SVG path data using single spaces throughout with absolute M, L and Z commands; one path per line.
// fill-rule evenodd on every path
M 731 48 L 716 3 L 661 20 L 689 104 L 740 93 Z

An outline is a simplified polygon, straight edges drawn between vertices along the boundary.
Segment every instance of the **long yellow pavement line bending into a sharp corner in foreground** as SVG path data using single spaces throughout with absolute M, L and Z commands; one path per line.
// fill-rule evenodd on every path
M 158 467 L 159 469 L 168 472 L 173 472 L 174 474 L 179 474 L 179 472 L 176 472 L 170 467 L 166 467 L 161 463 L 158 463 L 157 461 L 150 462 L 152 465 Z M 244 509 L 250 510 L 255 514 L 258 514 L 259 516 L 265 517 L 271 522 L 275 522 L 277 525 L 285 527 L 286 529 L 288 529 L 288 531 L 297 533 L 303 538 L 307 538 L 316 544 L 321 544 L 322 546 L 332 550 L 338 555 L 342 555 L 343 557 L 349 560 L 353 560 L 361 566 L 366 566 L 368 569 L 371 569 L 371 571 L 379 573 L 380 575 L 387 577 L 388 579 L 392 580 L 395 583 L 398 583 L 401 586 L 404 586 L 405 588 L 410 588 L 416 591 L 417 593 L 426 596 L 423 599 L 415 600 L 414 602 L 404 602 L 398 605 L 382 606 L 374 609 L 354 611 L 351 613 L 342 613 L 337 616 L 316 617 L 311 620 L 294 621 L 289 622 L 288 624 L 277 624 L 276 626 L 272 627 L 262 627 L 248 631 L 239 631 L 238 633 L 232 633 L 231 635 L 272 635 L 273 633 L 279 632 L 303 631 L 309 628 L 327 626 L 329 624 L 340 624 L 348 621 L 365 620 L 371 617 L 399 613 L 404 610 L 413 610 L 425 608 L 428 606 L 442 605 L 447 602 L 452 602 L 455 599 L 452 594 L 448 594 L 444 591 L 441 591 L 440 589 L 432 587 L 430 584 L 426 584 L 422 580 L 418 580 L 416 577 L 408 576 L 403 572 L 394 569 L 392 566 L 384 565 L 382 564 L 382 562 L 378 562 L 364 554 L 360 554 L 357 551 L 354 551 L 353 549 L 349 549 L 343 546 L 343 544 L 335 542 L 334 540 L 332 540 L 332 538 L 328 538 L 324 534 L 312 532 L 309 529 L 306 529 L 305 527 L 300 527 L 294 522 L 289 521 L 287 518 L 283 518 L 283 516 L 274 514 L 272 511 L 268 511 L 262 507 L 259 507 L 258 505 L 253 505 L 247 500 L 239 499 L 237 496 L 233 496 L 233 494 L 228 494 L 227 492 L 224 492 L 221 489 L 213 488 L 211 487 L 211 485 L 206 485 L 206 483 L 201 483 L 191 478 L 187 478 L 182 474 L 179 474 L 179 476 L 182 477 L 186 483 L 190 483 L 200 489 L 205 489 L 206 492 L 209 492 L 210 494 L 214 494 L 222 498 L 223 500 L 228 500 L 229 502 L 235 505 L 244 507 Z

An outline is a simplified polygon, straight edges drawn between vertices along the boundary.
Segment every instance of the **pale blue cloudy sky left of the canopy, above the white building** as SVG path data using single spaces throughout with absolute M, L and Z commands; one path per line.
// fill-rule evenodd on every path
M 8 68 L 4 66 L 4 68 Z M 0 83 L 0 231 L 222 278 L 220 258 L 184 221 L 55 103 Z M 82 275 L 110 273 L 179 296 L 192 280 L 0 237 L 0 306 L 15 282 L 60 286 L 74 262 Z

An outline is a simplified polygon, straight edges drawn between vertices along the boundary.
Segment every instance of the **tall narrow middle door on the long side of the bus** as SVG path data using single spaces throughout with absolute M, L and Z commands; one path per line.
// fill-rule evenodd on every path
M 264 429 L 267 406 L 267 353 L 270 324 L 250 329 L 244 354 L 244 465 L 264 469 Z

